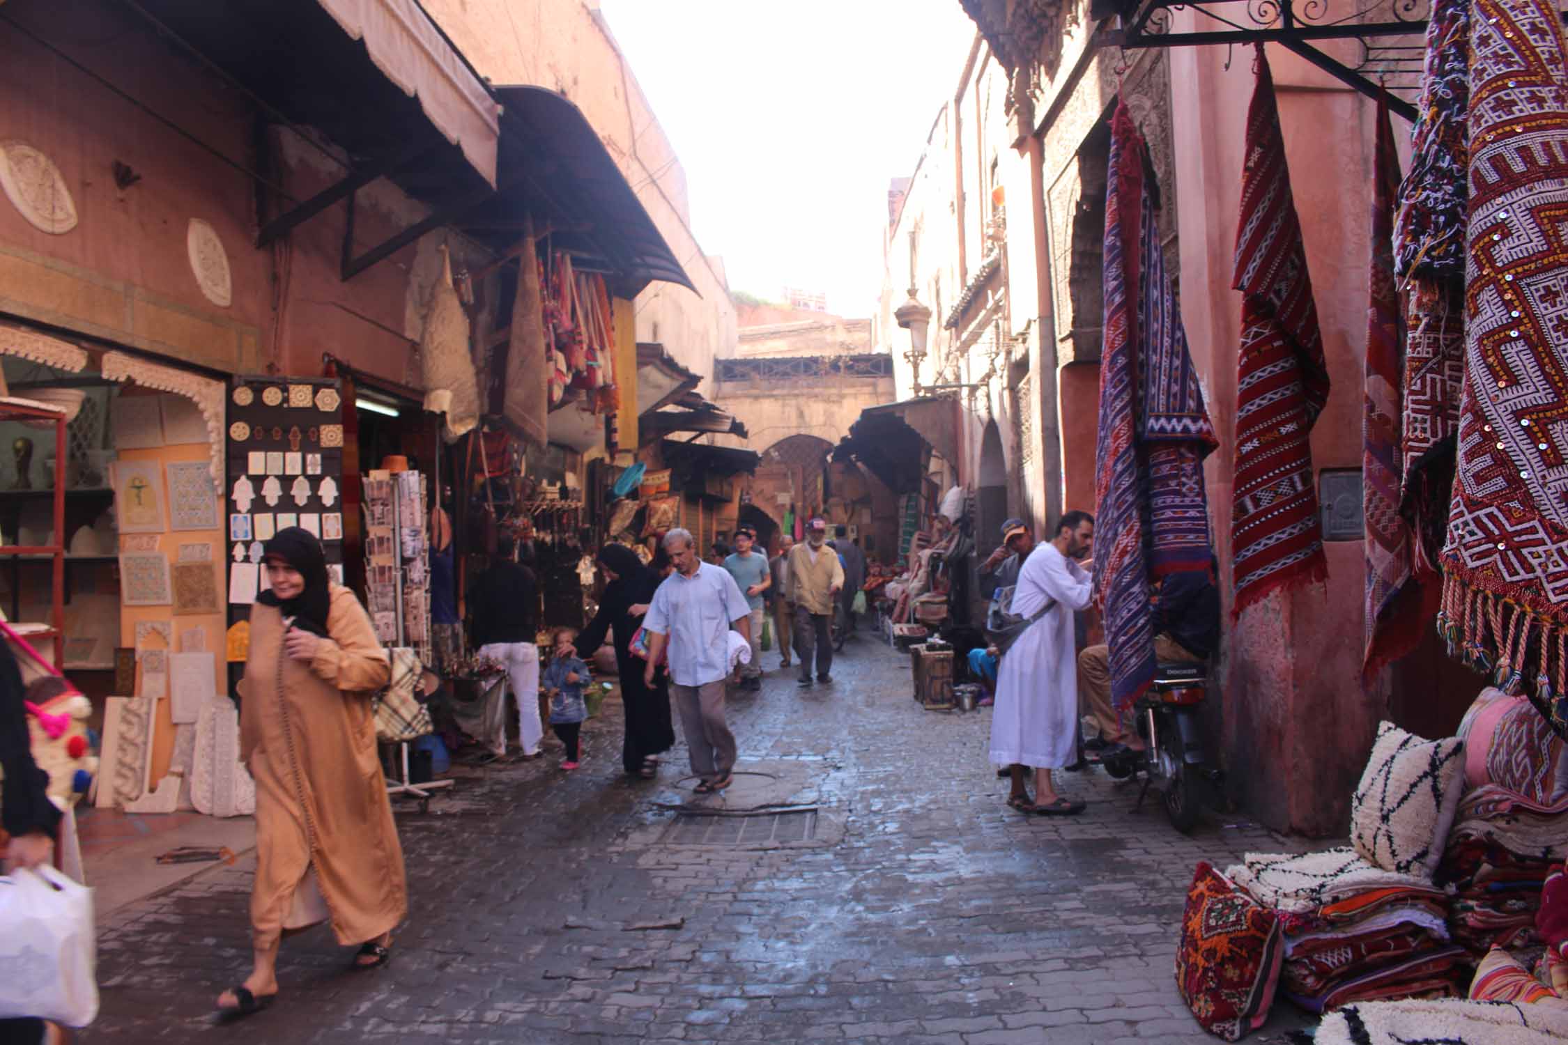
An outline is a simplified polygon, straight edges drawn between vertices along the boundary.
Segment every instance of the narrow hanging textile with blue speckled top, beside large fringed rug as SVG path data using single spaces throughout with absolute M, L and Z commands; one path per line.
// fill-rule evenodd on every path
M 1405 313 L 1400 514 L 1411 575 L 1438 586 L 1465 378 L 1465 207 L 1471 0 L 1433 0 L 1410 172 L 1399 190 L 1394 274 Z

